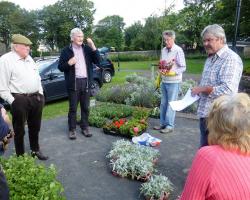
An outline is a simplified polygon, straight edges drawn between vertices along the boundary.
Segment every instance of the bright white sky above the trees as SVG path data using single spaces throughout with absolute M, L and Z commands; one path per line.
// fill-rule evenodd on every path
M 2 0 L 0 0 L 2 1 Z M 43 6 L 52 5 L 58 0 L 7 0 L 19 5 L 26 10 L 41 9 Z M 91 0 L 94 2 L 96 12 L 94 24 L 110 15 L 123 17 L 125 26 L 130 26 L 136 21 L 145 22 L 151 15 L 161 15 L 170 4 L 175 4 L 175 10 L 183 8 L 183 0 Z

